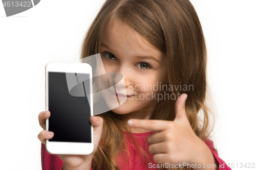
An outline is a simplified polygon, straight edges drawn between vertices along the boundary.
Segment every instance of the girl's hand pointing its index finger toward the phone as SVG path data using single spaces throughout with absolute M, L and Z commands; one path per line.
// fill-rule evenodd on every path
M 174 121 L 130 119 L 128 125 L 159 131 L 147 138 L 150 144 L 148 151 L 154 155 L 154 161 L 158 164 L 215 164 L 211 151 L 190 126 L 185 111 L 186 98 L 186 94 L 179 96 L 175 105 Z

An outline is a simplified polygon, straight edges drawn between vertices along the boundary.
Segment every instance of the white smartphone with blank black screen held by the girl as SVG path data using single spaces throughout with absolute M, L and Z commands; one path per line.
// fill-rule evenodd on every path
M 46 141 L 50 154 L 89 155 L 94 150 L 92 67 L 87 63 L 49 62 L 46 65 Z

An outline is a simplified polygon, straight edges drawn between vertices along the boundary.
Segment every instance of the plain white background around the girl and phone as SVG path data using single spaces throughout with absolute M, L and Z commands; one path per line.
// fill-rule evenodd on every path
M 45 110 L 45 65 L 79 57 L 83 37 L 103 2 L 43 0 L 11 17 L 5 17 L 0 4 L 0 169 L 41 169 L 37 134 L 42 130 L 38 114 Z M 207 43 L 218 115 L 212 133 L 215 147 L 226 163 L 256 163 L 256 3 L 191 3 Z

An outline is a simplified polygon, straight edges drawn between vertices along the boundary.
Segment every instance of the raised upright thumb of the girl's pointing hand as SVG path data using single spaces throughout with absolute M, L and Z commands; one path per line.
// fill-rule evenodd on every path
M 175 104 L 175 120 L 184 120 L 187 119 L 186 110 L 185 110 L 185 102 L 187 99 L 187 94 L 183 93 L 179 96 L 179 99 Z

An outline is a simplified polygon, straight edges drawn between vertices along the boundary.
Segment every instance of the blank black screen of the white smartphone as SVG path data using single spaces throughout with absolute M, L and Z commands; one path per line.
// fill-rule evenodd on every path
M 49 141 L 92 142 L 91 109 L 86 90 L 82 92 L 84 96 L 69 93 L 66 72 L 48 72 L 49 131 L 54 132 Z

